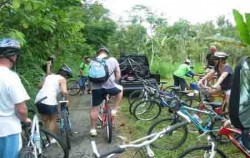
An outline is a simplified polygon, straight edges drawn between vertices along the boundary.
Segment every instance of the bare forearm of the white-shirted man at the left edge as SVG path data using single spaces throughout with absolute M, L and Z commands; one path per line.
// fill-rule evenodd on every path
M 28 118 L 28 111 L 27 111 L 27 106 L 25 102 L 21 102 L 18 104 L 15 104 L 15 111 L 17 117 L 25 123 L 31 122 L 31 120 Z

